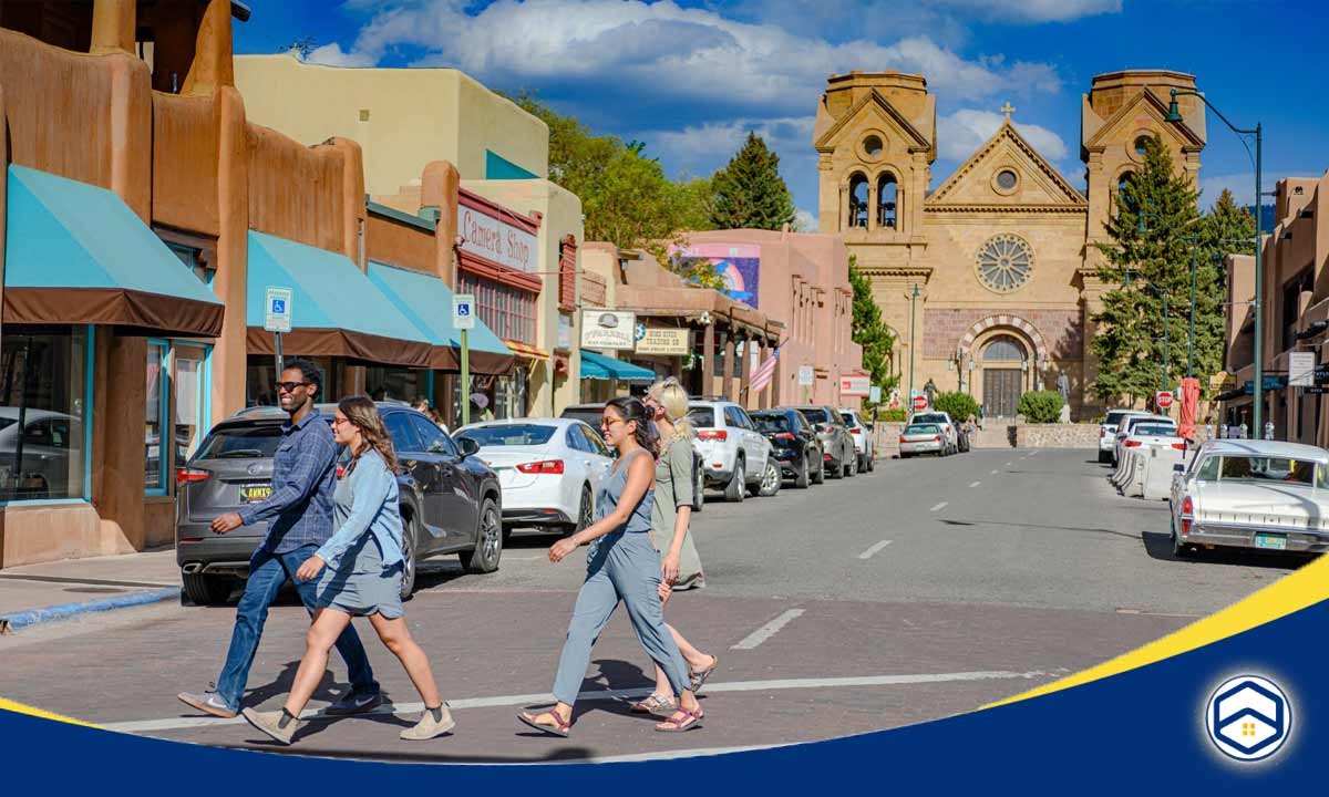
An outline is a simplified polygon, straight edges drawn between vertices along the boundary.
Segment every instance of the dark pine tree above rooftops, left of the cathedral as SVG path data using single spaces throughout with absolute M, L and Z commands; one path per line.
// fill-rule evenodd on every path
M 793 199 L 780 177 L 780 157 L 756 133 L 748 133 L 743 149 L 711 181 L 711 222 L 716 230 L 779 230 L 793 222 Z

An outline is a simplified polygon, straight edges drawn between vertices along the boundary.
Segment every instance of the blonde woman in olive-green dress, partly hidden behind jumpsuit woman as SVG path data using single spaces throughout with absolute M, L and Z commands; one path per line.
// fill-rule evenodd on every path
M 668 377 L 646 391 L 646 409 L 653 416 L 659 436 L 661 456 L 655 464 L 655 506 L 651 510 L 651 538 L 661 546 L 661 602 L 668 604 L 674 590 L 706 586 L 702 559 L 696 554 L 688 523 L 692 517 L 692 425 L 687 420 L 687 391 Z M 688 687 L 699 692 L 706 679 L 719 665 L 719 656 L 696 650 L 678 628 L 666 623 L 688 667 Z M 655 664 L 655 689 L 633 704 L 638 713 L 668 716 L 678 709 L 678 699 L 664 669 Z

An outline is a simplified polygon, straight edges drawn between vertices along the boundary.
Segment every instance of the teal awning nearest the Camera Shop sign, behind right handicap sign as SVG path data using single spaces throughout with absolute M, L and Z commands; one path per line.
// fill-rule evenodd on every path
M 432 367 L 461 367 L 461 332 L 452 327 L 452 288 L 437 276 L 369 260 L 369 280 L 433 344 Z M 508 373 L 513 353 L 478 317 L 466 335 L 472 373 Z

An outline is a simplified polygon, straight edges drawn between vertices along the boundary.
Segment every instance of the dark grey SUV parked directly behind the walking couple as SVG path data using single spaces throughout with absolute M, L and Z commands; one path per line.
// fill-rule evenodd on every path
M 401 596 L 415 590 L 416 562 L 457 554 L 470 573 L 492 573 L 502 555 L 502 493 L 498 477 L 474 457 L 472 441 L 453 441 L 424 414 L 395 401 L 379 401 L 403 473 L 397 476 L 405 573 Z M 335 405 L 319 405 L 326 420 Z M 213 534 L 213 518 L 272 494 L 272 454 L 287 414 L 250 408 L 219 422 L 198 453 L 177 472 L 175 562 L 185 594 L 199 604 L 226 600 L 267 523 Z M 338 470 L 350 454 L 343 450 Z

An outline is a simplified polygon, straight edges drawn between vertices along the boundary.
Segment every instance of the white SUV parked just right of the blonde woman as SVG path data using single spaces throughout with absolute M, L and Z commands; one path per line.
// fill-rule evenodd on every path
M 771 453 L 771 441 L 747 410 L 732 401 L 692 401 L 687 417 L 696 429 L 706 484 L 723 487 L 727 501 L 743 501 L 748 490 L 754 495 L 780 490 L 780 464 Z

